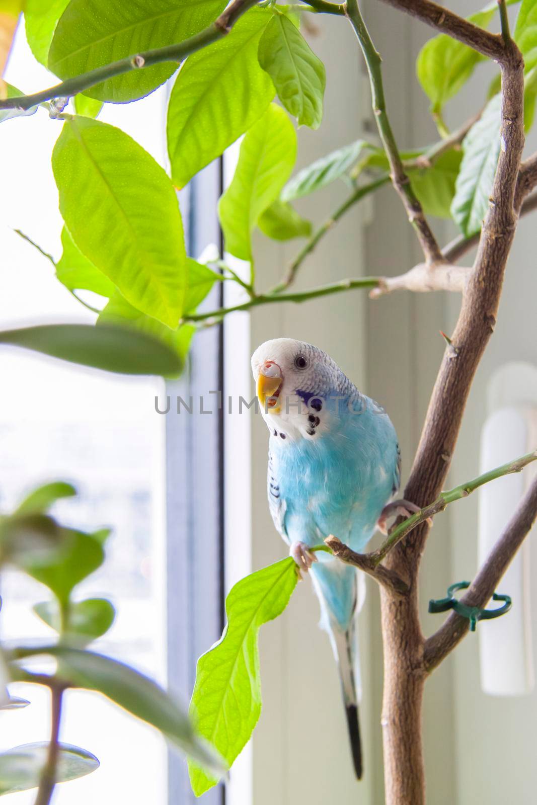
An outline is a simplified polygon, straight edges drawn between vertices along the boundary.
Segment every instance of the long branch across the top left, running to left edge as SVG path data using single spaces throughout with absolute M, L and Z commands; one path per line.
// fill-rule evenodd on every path
M 242 14 L 245 14 L 247 10 L 257 4 L 258 0 L 233 0 L 214 23 L 211 23 L 204 31 L 200 31 L 199 34 L 184 39 L 183 42 L 134 53 L 132 56 L 127 56 L 126 59 L 89 70 L 89 72 L 82 73 L 81 76 L 68 78 L 67 81 L 62 81 L 56 86 L 43 89 L 33 95 L 6 98 L 0 101 L 0 109 L 30 109 L 31 106 L 43 103 L 43 101 L 52 101 L 53 98 L 71 97 L 96 84 L 100 84 L 101 81 L 114 78 L 114 76 L 121 76 L 131 70 L 144 69 L 165 61 L 175 61 L 180 64 L 191 53 L 195 53 L 202 47 L 207 47 L 207 45 L 216 42 L 217 39 L 229 34 L 233 24 L 237 22 Z

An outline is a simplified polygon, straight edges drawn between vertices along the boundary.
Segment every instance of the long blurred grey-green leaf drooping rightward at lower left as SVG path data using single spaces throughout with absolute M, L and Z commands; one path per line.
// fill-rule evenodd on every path
M 183 749 L 204 768 L 222 773 L 221 758 L 192 727 L 187 712 L 162 687 L 125 663 L 96 654 L 56 644 L 38 648 L 19 648 L 14 656 L 24 658 L 39 654 L 52 654 L 61 662 L 62 677 L 74 687 L 84 687 L 108 696 L 115 704 L 125 708 L 147 724 L 159 729 L 165 737 Z M 11 667 L 17 679 L 17 667 Z

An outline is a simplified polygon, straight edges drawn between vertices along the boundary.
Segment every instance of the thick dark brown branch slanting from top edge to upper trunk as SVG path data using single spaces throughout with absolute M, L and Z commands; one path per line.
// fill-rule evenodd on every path
M 444 6 L 438 6 L 436 2 L 430 0 L 383 0 L 383 2 L 406 11 L 441 34 L 448 34 L 452 39 L 458 39 L 459 42 L 469 45 L 482 56 L 494 59 L 499 64 L 505 62 L 506 49 L 500 35 L 485 31 Z

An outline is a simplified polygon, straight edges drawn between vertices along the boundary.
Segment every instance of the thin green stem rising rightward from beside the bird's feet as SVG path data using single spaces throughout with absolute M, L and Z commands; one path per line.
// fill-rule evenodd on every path
M 424 506 L 419 512 L 412 514 L 411 517 L 403 520 L 399 526 L 396 526 L 390 536 L 382 543 L 381 547 L 369 554 L 369 558 L 372 560 L 373 564 L 377 566 L 382 562 L 386 554 L 391 551 L 403 537 L 406 537 L 415 526 L 418 526 L 420 522 L 428 520 L 428 518 L 433 517 L 440 511 L 444 511 L 449 503 L 461 500 L 461 497 L 468 497 L 475 489 L 478 489 L 484 484 L 488 484 L 489 481 L 494 481 L 496 478 L 501 478 L 510 473 L 519 473 L 527 464 L 530 464 L 531 461 L 535 461 L 536 459 L 537 450 L 534 450 L 531 453 L 527 453 L 526 456 L 521 456 L 514 461 L 509 461 L 507 464 L 502 464 L 501 467 L 489 470 L 488 473 L 483 473 L 479 477 L 474 478 L 473 481 L 467 481 L 465 484 L 456 486 L 448 492 L 441 492 L 436 498 L 436 501 L 430 503 L 428 506 Z

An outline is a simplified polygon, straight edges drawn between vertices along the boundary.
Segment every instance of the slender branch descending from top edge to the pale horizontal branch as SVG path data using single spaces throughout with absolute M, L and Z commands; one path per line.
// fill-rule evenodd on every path
M 349 22 L 353 26 L 358 42 L 360 43 L 361 52 L 366 60 L 367 71 L 370 76 L 371 101 L 373 104 L 374 117 L 377 122 L 378 134 L 380 135 L 388 162 L 390 163 L 392 184 L 398 192 L 400 199 L 403 201 L 408 220 L 415 229 L 419 244 L 425 256 L 425 262 L 428 264 L 443 262 L 440 246 L 438 246 L 436 242 L 436 237 L 433 235 L 428 225 L 421 204 L 419 204 L 419 200 L 415 196 L 410 180 L 403 168 L 403 162 L 401 161 L 390 120 L 386 113 L 386 100 L 384 97 L 384 87 L 382 85 L 381 57 L 374 47 L 370 33 L 361 17 L 357 0 L 347 0 L 346 11 Z

